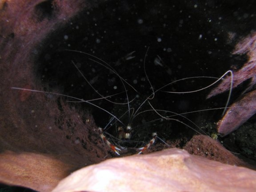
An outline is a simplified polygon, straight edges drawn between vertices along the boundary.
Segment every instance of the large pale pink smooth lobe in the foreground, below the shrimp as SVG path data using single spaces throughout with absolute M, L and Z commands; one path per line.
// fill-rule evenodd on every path
M 256 172 L 181 149 L 106 160 L 65 178 L 53 192 L 254 192 Z

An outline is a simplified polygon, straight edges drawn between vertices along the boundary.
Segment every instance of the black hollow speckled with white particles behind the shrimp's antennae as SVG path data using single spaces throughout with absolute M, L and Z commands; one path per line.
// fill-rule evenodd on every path
M 203 9 L 196 9 L 190 4 L 175 1 L 170 5 L 164 0 L 157 4 L 148 1 L 108 1 L 85 9 L 44 41 L 43 51 L 36 60 L 38 66 L 35 72 L 40 77 L 38 83 L 43 84 L 44 91 L 59 92 L 83 100 L 100 98 L 98 93 L 102 96 L 117 94 L 110 100 L 118 103 L 127 102 L 127 89 L 129 101 L 135 98 L 130 108 L 136 111 L 152 94 L 144 72 L 144 62 L 155 91 L 183 78 L 220 77 L 231 64 L 240 66 L 246 57 L 233 56 L 234 41 L 229 42 L 228 32 L 223 31 L 221 25 L 216 27 L 218 20 L 209 22 L 208 17 L 201 17 L 201 12 Z M 211 8 L 205 12 L 214 17 Z M 127 81 L 125 88 L 120 78 L 103 66 L 106 65 L 104 62 Z M 164 140 L 180 136 L 191 138 L 198 133 L 190 127 L 203 133 L 193 123 L 201 127 L 205 122 L 216 122 L 222 110 L 186 113 L 223 108 L 228 93 L 206 100 L 210 89 L 184 94 L 163 91 L 189 92 L 206 87 L 214 80 L 203 77 L 182 80 L 157 92 L 154 100 L 150 100 L 154 108 L 184 114 L 185 117 L 175 115 L 173 118 L 178 121 L 157 120 L 147 124 L 161 117 L 152 111 L 141 113 L 132 120 L 132 139 L 141 142 L 150 140 L 152 132 L 157 132 Z M 125 127 L 130 123 L 128 105 L 113 104 L 104 99 L 92 103 L 116 117 L 122 117 L 123 125 L 116 123 L 108 129 L 111 135 L 117 135 L 116 127 Z M 79 110 L 91 111 L 99 127 L 104 128 L 112 117 L 92 104 L 70 104 Z M 145 102 L 139 112 L 143 110 L 152 110 L 152 107 Z M 168 116 L 166 113 L 162 115 Z M 206 134 L 210 135 L 210 132 Z

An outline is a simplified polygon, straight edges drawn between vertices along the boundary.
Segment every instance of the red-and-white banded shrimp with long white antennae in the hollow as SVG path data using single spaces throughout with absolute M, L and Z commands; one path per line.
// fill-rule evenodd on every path
M 72 51 L 72 50 L 68 50 L 68 51 Z M 77 51 L 72 51 L 72 52 L 77 52 Z M 147 52 L 148 52 L 148 50 L 147 50 Z M 54 92 L 29 90 L 29 89 L 24 89 L 24 88 L 14 88 L 14 89 L 21 89 L 21 90 L 32 91 L 32 92 L 41 92 L 41 93 L 47 93 L 47 94 L 53 94 L 53 95 L 59 95 L 59 96 L 66 96 L 68 98 L 76 100 L 76 101 L 70 101 L 70 102 L 86 103 L 86 104 L 92 105 L 92 106 L 94 106 L 96 108 L 99 108 L 100 111 L 107 112 L 108 115 L 111 116 L 111 118 L 110 118 L 108 124 L 106 126 L 104 126 L 103 130 L 107 131 L 108 129 L 113 127 L 113 125 L 118 127 L 118 128 L 115 128 L 115 129 L 112 128 L 112 131 L 110 131 L 108 133 L 103 133 L 103 131 L 101 131 L 102 129 L 100 128 L 99 129 L 100 130 L 100 136 L 109 145 L 109 147 L 112 148 L 112 150 L 114 152 L 116 152 L 116 154 L 118 154 L 118 155 L 120 155 L 120 154 L 119 154 L 119 152 L 117 150 L 121 151 L 121 150 L 126 150 L 127 148 L 129 148 L 131 150 L 131 149 L 138 148 L 138 146 L 141 146 L 141 145 L 142 146 L 144 145 L 144 147 L 139 148 L 139 150 L 140 150 L 139 153 L 144 152 L 146 149 L 148 149 L 155 142 L 156 137 L 157 137 L 156 132 L 153 132 L 152 139 L 149 141 L 149 143 L 147 144 L 147 142 L 144 142 L 143 139 L 145 140 L 145 138 L 146 138 L 146 140 L 149 140 L 150 136 L 148 136 L 149 135 L 148 133 L 150 131 L 152 131 L 152 130 L 156 131 L 157 130 L 158 132 L 160 132 L 160 134 L 161 133 L 163 134 L 163 130 L 162 130 L 163 128 L 161 128 L 161 127 L 166 126 L 167 129 L 171 128 L 170 125 L 168 125 L 168 121 L 164 122 L 163 120 L 175 120 L 176 122 L 178 122 L 180 124 L 183 124 L 186 127 L 190 128 L 190 129 L 192 129 L 192 130 L 194 130 L 194 131 L 196 131 L 198 133 L 201 133 L 201 132 L 195 130 L 195 128 L 192 128 L 191 125 L 188 125 L 187 123 L 184 123 L 182 120 L 179 120 L 179 119 L 176 119 L 176 118 L 172 118 L 173 116 L 179 116 L 179 117 L 182 117 L 183 119 L 189 121 L 190 123 L 196 125 L 195 123 L 192 122 L 192 120 L 189 120 L 187 117 L 184 116 L 185 114 L 193 113 L 193 112 L 184 112 L 183 114 L 179 114 L 179 113 L 171 112 L 171 111 L 168 111 L 168 110 L 155 109 L 152 106 L 152 104 L 154 104 L 154 100 L 153 99 L 155 97 L 155 94 L 156 93 L 158 94 L 158 92 L 162 91 L 163 88 L 168 87 L 169 85 L 174 84 L 174 83 L 176 83 L 178 81 L 182 81 L 182 80 L 198 79 L 198 78 L 216 79 L 216 81 L 214 81 L 212 84 L 210 84 L 210 85 L 208 85 L 208 86 L 206 86 L 204 88 L 195 90 L 195 91 L 190 91 L 190 92 L 171 92 L 171 93 L 186 94 L 186 93 L 191 93 L 191 92 L 200 92 L 200 91 L 202 91 L 202 90 L 204 90 L 206 88 L 211 87 L 213 84 L 216 84 L 227 73 L 231 73 L 232 74 L 231 71 L 228 71 L 223 76 L 221 76 L 220 78 L 205 77 L 205 76 L 185 78 L 185 79 L 176 80 L 176 81 L 173 81 L 171 83 L 165 84 L 161 88 L 158 88 L 158 89 L 154 90 L 150 80 L 148 79 L 148 75 L 147 75 L 146 69 L 145 69 L 145 60 L 146 60 L 146 56 L 147 56 L 147 53 L 146 53 L 145 57 L 144 57 L 144 60 L 143 60 L 143 64 L 144 64 L 143 70 L 144 70 L 144 74 L 145 74 L 145 79 L 147 80 L 147 83 L 150 84 L 150 88 L 148 88 L 148 90 L 150 90 L 150 92 L 148 93 L 148 96 L 146 96 L 146 99 L 143 98 L 142 100 L 138 100 L 139 96 L 138 96 L 138 92 L 136 91 L 136 89 L 134 87 L 132 87 L 132 85 L 129 84 L 126 80 L 124 80 L 124 78 L 122 78 L 116 72 L 116 70 L 114 68 L 112 68 L 106 62 L 104 62 L 103 60 L 97 58 L 96 56 L 92 56 L 91 54 L 84 53 L 84 52 L 77 52 L 77 53 L 81 53 L 81 54 L 85 54 L 87 56 L 91 56 L 93 59 L 89 59 L 90 61 L 92 61 L 93 63 L 99 64 L 100 66 L 103 66 L 103 68 L 106 68 L 110 72 L 114 73 L 115 76 L 120 78 L 121 84 L 122 84 L 122 86 L 124 88 L 124 93 L 125 93 L 124 94 L 125 95 L 124 98 L 125 99 L 123 99 L 123 98 L 122 99 L 115 98 L 116 95 L 120 96 L 120 94 L 122 92 L 121 93 L 112 94 L 110 96 L 103 96 L 100 92 L 98 92 L 96 90 L 96 88 L 93 87 L 93 85 L 92 85 L 93 83 L 89 82 L 89 80 L 85 77 L 85 75 L 80 71 L 78 66 L 73 61 L 72 61 L 72 63 L 76 67 L 77 72 L 79 72 L 80 75 L 82 76 L 82 79 L 84 79 L 88 83 L 88 85 L 93 89 L 92 92 L 94 92 L 96 95 L 100 96 L 100 98 L 92 99 L 92 100 L 84 100 L 84 99 L 79 99 L 79 98 L 74 97 L 74 96 L 67 96 L 67 95 L 58 94 L 58 93 L 54 93 Z M 132 53 L 134 53 L 134 52 L 132 52 Z M 128 54 L 126 56 L 126 58 L 128 58 L 126 60 L 130 60 L 130 59 L 133 58 L 133 56 L 132 56 L 132 54 Z M 156 58 L 159 58 L 159 56 L 156 57 Z M 130 98 L 129 98 L 130 97 L 130 92 L 129 92 L 129 96 L 128 96 L 128 89 L 126 88 L 127 85 L 130 88 L 132 88 L 133 91 L 136 92 L 136 98 L 133 98 L 132 100 L 130 100 Z M 230 90 L 232 90 L 232 87 L 231 87 Z M 129 90 L 129 91 L 131 91 L 131 90 Z M 109 100 L 109 99 L 112 99 L 112 98 L 114 98 L 115 101 Z M 106 110 L 105 108 L 101 107 L 102 104 L 93 104 L 93 101 L 96 101 L 96 100 L 106 100 L 108 104 L 114 104 L 114 108 L 112 109 L 111 112 L 108 112 L 108 110 Z M 123 103 L 118 103 L 119 100 L 122 100 Z M 132 106 L 134 100 L 137 102 L 136 105 L 138 107 L 130 107 L 130 105 Z M 229 100 L 229 98 L 228 98 L 228 100 Z M 228 102 L 227 102 L 227 104 L 228 104 Z M 123 105 L 125 107 L 121 107 L 120 105 Z M 148 106 L 146 106 L 146 105 L 148 105 Z M 117 111 L 115 111 L 116 110 L 115 108 L 117 108 Z M 122 109 L 122 108 L 124 108 L 124 109 Z M 119 114 L 119 116 L 116 115 L 116 114 Z M 139 120 L 137 120 L 138 117 L 140 117 L 140 115 L 144 115 L 144 114 L 146 114 L 146 116 L 142 116 Z M 150 114 L 149 117 L 147 117 L 148 114 Z M 167 115 L 167 114 L 174 114 L 174 115 Z M 160 116 L 160 118 L 156 118 L 157 116 Z M 125 123 L 122 122 L 123 121 L 122 118 L 124 118 L 124 117 L 127 119 L 127 120 L 124 121 Z M 157 122 L 157 121 L 160 121 L 160 123 Z M 200 128 L 198 126 L 196 126 L 196 127 L 200 130 Z M 117 133 L 117 130 L 118 130 L 118 133 Z M 116 134 L 113 133 L 113 132 L 116 132 Z M 108 141 L 108 139 L 106 138 L 105 134 L 107 134 L 108 137 L 111 138 L 112 142 Z M 116 135 L 116 136 L 114 136 L 114 135 Z M 143 136 L 143 135 L 146 135 L 146 136 Z M 117 137 L 119 137 L 119 138 L 117 138 Z M 136 139 L 133 139 L 133 138 L 136 138 Z M 160 137 L 158 137 L 158 138 L 161 141 L 163 141 L 168 146 L 168 144 L 164 140 L 162 140 Z M 114 144 L 112 144 L 113 142 L 114 142 Z M 117 148 L 115 145 L 118 146 L 119 148 Z

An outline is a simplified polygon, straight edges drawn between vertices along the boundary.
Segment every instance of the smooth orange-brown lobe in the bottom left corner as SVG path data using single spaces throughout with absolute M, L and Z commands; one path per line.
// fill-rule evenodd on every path
M 42 154 L 11 151 L 0 154 L 0 181 L 8 185 L 46 192 L 68 176 L 72 169 L 72 165 Z

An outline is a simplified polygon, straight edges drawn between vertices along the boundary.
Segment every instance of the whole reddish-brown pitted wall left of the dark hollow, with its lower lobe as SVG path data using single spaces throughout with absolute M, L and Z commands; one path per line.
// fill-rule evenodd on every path
M 50 191 L 71 170 L 104 160 L 92 116 L 60 97 L 11 89 L 43 89 L 35 73 L 41 46 L 90 6 L 84 0 L 0 2 L 0 183 Z

